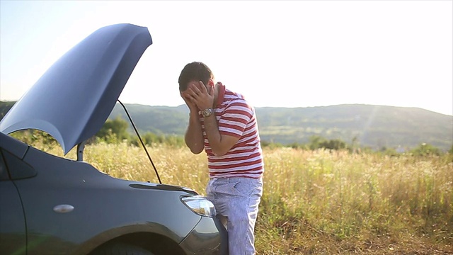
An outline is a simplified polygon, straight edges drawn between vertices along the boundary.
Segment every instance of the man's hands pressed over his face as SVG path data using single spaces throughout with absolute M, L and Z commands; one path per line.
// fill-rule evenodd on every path
M 185 91 L 180 91 L 180 96 L 190 108 L 190 111 L 203 111 L 214 106 L 214 81 L 210 79 L 207 84 L 202 81 L 190 81 Z

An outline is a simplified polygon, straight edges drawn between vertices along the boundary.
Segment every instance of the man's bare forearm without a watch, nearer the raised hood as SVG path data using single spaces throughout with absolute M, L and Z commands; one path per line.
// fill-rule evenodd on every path
M 205 148 L 205 138 L 197 112 L 190 111 L 189 125 L 185 130 L 184 141 L 193 154 L 200 154 Z

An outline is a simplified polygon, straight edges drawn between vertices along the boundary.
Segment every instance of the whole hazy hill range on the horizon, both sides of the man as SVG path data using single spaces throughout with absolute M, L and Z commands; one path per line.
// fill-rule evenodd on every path
M 13 102 L 0 102 L 4 116 Z M 140 132 L 183 135 L 188 124 L 187 106 L 125 104 Z M 318 135 L 326 139 L 355 140 L 372 149 L 413 148 L 422 142 L 443 150 L 453 144 L 453 116 L 421 108 L 372 105 L 338 105 L 308 108 L 256 108 L 261 140 L 283 145 L 303 144 Z M 117 104 L 113 118 L 127 115 Z M 131 129 L 132 130 L 132 129 Z

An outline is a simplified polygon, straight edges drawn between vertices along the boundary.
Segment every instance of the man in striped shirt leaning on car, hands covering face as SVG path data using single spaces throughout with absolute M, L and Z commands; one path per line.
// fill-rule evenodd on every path
M 243 96 L 214 82 L 202 62 L 186 64 L 178 83 L 190 109 L 185 144 L 194 154 L 205 149 L 207 198 L 226 217 L 229 254 L 255 254 L 253 229 L 264 171 L 255 111 Z

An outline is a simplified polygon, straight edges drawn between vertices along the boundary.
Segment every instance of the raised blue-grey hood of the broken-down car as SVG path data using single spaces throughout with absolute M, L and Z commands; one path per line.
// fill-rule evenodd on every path
M 151 43 L 148 29 L 132 24 L 96 30 L 14 104 L 1 120 L 0 131 L 42 130 L 67 154 L 101 129 Z

